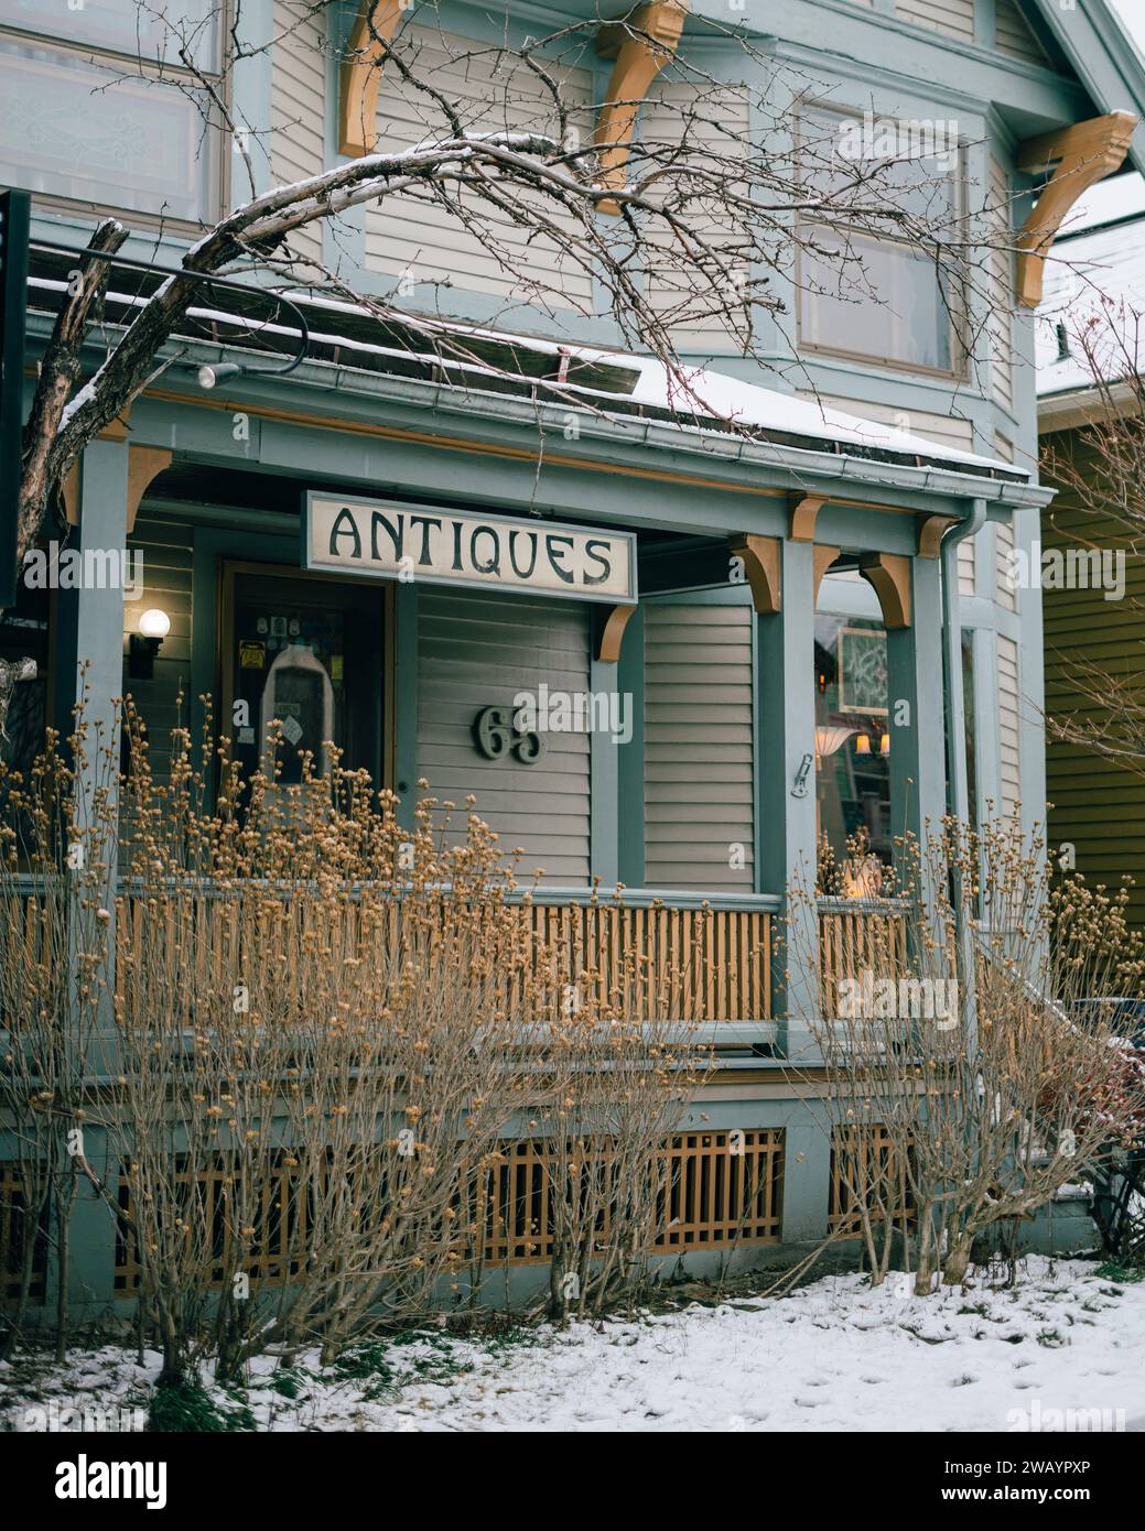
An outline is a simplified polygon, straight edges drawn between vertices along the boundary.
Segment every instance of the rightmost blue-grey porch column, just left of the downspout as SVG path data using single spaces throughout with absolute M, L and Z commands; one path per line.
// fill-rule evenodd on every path
M 940 560 L 909 562 L 909 611 L 887 622 L 891 833 L 923 842 L 946 813 L 946 709 Z

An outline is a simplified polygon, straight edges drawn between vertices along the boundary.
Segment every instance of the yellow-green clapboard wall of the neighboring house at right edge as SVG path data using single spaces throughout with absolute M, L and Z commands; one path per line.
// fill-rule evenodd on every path
M 1073 456 L 1074 467 L 1091 475 L 1091 453 L 1078 436 L 1050 436 L 1048 442 Z M 1068 487 L 1042 514 L 1045 550 L 1082 548 L 1096 544 L 1125 557 L 1125 596 L 1105 600 L 1101 589 L 1045 589 L 1045 710 L 1048 717 L 1076 715 L 1097 724 L 1107 713 L 1078 684 L 1078 663 L 1145 686 L 1145 557 L 1134 556 L 1125 528 L 1107 516 L 1082 510 Z M 1047 738 L 1047 796 L 1050 837 L 1055 845 L 1076 847 L 1078 870 L 1090 883 L 1116 888 L 1128 874 L 1130 914 L 1145 926 L 1145 779 L 1124 766 L 1076 744 Z

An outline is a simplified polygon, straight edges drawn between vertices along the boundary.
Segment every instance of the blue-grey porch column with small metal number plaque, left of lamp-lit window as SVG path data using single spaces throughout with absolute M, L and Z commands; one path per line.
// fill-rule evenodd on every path
M 814 545 L 780 539 L 779 611 L 759 615 L 759 891 L 783 900 L 774 1010 L 788 1058 L 811 1050 L 819 1006 L 815 888 L 815 574 Z M 757 600 L 757 608 L 760 602 Z M 792 897 L 792 890 L 800 894 Z

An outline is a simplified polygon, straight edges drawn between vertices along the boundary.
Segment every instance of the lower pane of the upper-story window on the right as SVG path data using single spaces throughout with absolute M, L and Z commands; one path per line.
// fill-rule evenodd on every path
M 800 251 L 799 331 L 806 346 L 906 366 L 953 371 L 950 314 L 935 263 L 892 240 L 808 230 L 822 254 Z M 849 256 L 843 265 L 845 253 Z

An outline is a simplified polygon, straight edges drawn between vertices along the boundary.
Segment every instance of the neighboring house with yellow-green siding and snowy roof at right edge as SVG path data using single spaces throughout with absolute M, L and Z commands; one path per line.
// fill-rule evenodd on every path
M 1137 926 L 1145 926 L 1145 749 L 1134 747 L 1131 730 L 1110 712 L 1108 683 L 1134 687 L 1137 697 L 1145 690 L 1145 548 L 1140 519 L 1134 531 L 1117 514 L 1124 485 L 1102 479 L 1091 429 L 1139 407 L 1140 395 L 1122 369 L 1137 343 L 1133 312 L 1145 308 L 1142 236 L 1145 214 L 1133 211 L 1058 242 L 1062 265 L 1047 285 L 1038 367 L 1044 473 L 1055 482 L 1058 462 L 1062 479 L 1042 511 L 1050 837 L 1073 851 L 1091 883 L 1117 888 L 1127 876 L 1134 879 L 1130 911 Z M 1110 318 L 1127 343 L 1116 360 L 1105 340 Z M 1087 360 L 1087 334 L 1105 360 Z M 1108 403 L 1094 363 L 1108 384 Z M 1127 758 L 1055 736 L 1053 724 L 1073 721 L 1097 729 Z

